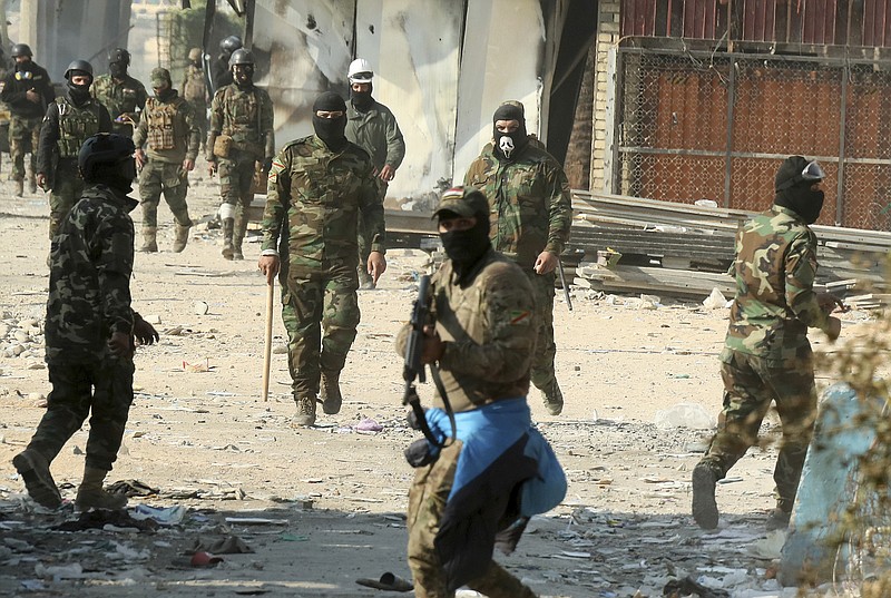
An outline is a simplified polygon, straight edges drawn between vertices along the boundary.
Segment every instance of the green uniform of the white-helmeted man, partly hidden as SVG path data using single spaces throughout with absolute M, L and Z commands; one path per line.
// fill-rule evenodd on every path
M 390 108 L 375 101 L 369 110 L 360 112 L 353 102 L 346 104 L 346 138 L 371 156 L 378 173 L 389 165 L 396 170 L 405 157 L 405 141 L 399 124 Z M 378 200 L 383 205 L 386 197 L 386 182 L 375 178 Z M 359 226 L 359 278 L 363 284 L 371 282 L 365 264 L 371 248 L 364 228 Z

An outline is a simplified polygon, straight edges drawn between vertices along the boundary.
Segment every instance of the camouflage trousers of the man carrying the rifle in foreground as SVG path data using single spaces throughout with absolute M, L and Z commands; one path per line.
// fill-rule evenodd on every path
M 456 440 L 442 449 L 439 459 L 418 468 L 409 490 L 409 568 L 414 578 L 417 598 L 452 598 L 434 540 L 454 482 L 458 458 L 463 443 Z M 482 576 L 467 586 L 489 598 L 535 598 L 535 594 L 495 560 Z

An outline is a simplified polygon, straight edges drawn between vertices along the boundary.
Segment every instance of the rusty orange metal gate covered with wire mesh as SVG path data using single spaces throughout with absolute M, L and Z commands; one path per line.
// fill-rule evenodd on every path
M 614 193 L 762 210 L 789 155 L 820 160 L 820 224 L 891 231 L 891 68 L 621 48 Z

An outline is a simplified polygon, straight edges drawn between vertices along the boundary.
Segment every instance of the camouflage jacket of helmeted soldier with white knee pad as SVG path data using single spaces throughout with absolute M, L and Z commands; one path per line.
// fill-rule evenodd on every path
M 275 155 L 273 107 L 270 95 L 256 86 L 239 89 L 227 85 L 210 101 L 210 125 L 207 134 L 207 159 L 213 161 L 214 140 L 218 135 L 232 137 L 233 147 L 255 160 Z

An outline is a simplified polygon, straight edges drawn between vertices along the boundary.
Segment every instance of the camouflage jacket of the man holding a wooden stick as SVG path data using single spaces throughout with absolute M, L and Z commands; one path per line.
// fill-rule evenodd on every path
M 335 153 L 315 135 L 291 141 L 273 160 L 267 188 L 262 249 L 275 249 L 278 239 L 290 275 L 317 273 L 325 262 L 355 267 L 360 214 L 371 251 L 383 253 L 383 205 L 359 146 Z

